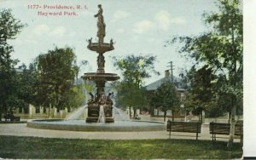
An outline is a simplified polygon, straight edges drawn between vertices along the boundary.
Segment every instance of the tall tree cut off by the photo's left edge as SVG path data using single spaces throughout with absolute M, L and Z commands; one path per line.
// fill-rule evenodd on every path
M 15 100 L 15 70 L 18 60 L 11 59 L 14 52 L 8 40 L 15 39 L 24 24 L 14 18 L 11 9 L 0 12 L 0 121 L 2 113 L 8 111 L 10 103 Z

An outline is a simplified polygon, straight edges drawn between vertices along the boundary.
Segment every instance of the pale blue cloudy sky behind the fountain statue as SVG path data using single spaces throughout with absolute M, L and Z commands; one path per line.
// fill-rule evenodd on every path
M 9 43 L 15 47 L 13 58 L 20 64 L 28 65 L 38 54 L 47 53 L 55 46 L 69 46 L 77 54 L 78 64 L 89 60 L 85 71 L 96 71 L 96 56 L 86 48 L 86 39 L 96 41 L 97 4 L 102 4 L 106 23 L 105 42 L 113 38 L 114 50 L 105 54 L 106 72 L 117 72 L 110 56 L 125 54 L 152 54 L 157 56 L 155 69 L 161 75 L 148 78 L 146 83 L 164 77 L 169 69 L 168 62 L 173 61 L 174 75 L 182 68 L 191 66 L 177 53 L 177 46 L 164 47 L 165 41 L 172 36 L 198 35 L 207 28 L 201 19 L 205 11 L 216 9 L 213 0 L 0 0 L 0 9 L 13 9 L 15 18 L 27 26 L 17 38 Z M 60 12 L 56 9 L 28 9 L 28 5 L 86 5 L 87 9 L 74 10 L 77 16 L 38 16 L 38 11 Z M 72 10 L 73 12 L 73 10 Z

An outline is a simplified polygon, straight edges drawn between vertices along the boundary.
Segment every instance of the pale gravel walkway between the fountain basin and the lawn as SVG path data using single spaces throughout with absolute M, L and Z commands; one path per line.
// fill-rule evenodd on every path
M 0 123 L 0 135 L 32 136 L 61 139 L 93 139 L 93 140 L 145 140 L 145 139 L 169 139 L 166 131 L 150 132 L 79 132 L 49 129 L 31 129 L 26 123 Z M 172 139 L 192 139 L 195 134 L 172 132 Z M 199 140 L 212 140 L 208 125 L 202 125 Z M 228 135 L 218 135 L 217 140 L 228 141 Z M 239 142 L 239 139 L 235 139 Z

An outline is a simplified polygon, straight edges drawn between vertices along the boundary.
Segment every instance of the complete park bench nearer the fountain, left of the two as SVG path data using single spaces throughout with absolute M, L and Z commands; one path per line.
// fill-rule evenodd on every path
M 201 133 L 201 123 L 186 123 L 186 122 L 173 122 L 168 120 L 167 131 L 169 131 L 169 137 L 171 138 L 171 132 L 187 132 L 195 133 L 196 140 L 198 140 L 198 134 Z

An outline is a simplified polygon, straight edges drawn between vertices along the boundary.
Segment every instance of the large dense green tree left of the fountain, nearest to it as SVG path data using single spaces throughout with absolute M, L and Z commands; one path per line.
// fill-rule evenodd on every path
M 77 66 L 74 65 L 73 49 L 49 50 L 36 60 L 39 85 L 38 95 L 41 106 L 56 107 L 59 112 L 68 103 L 67 93 L 73 88 Z

